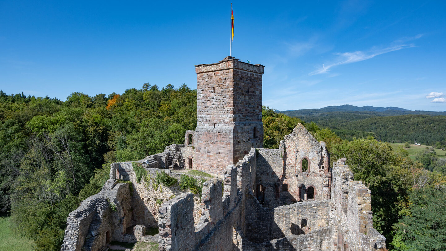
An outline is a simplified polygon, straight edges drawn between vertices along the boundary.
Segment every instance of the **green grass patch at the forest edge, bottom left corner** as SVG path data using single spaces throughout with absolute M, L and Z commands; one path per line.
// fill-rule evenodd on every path
M 34 242 L 12 232 L 9 217 L 0 217 L 0 250 L 32 251 Z

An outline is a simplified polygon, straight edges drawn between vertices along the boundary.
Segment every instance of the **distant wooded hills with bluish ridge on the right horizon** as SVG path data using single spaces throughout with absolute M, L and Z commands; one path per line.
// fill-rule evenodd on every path
M 411 111 L 399 107 L 327 106 L 321 109 L 282 111 L 290 117 L 314 121 L 341 138 L 373 135 L 384 142 L 420 142 L 446 145 L 446 112 Z

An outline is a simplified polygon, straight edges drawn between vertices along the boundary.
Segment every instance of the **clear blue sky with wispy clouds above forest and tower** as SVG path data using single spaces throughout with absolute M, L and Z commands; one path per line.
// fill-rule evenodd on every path
M 196 88 L 229 54 L 226 1 L 0 0 L 0 89 L 94 96 Z M 265 66 L 263 104 L 446 110 L 446 1 L 233 1 L 232 55 Z

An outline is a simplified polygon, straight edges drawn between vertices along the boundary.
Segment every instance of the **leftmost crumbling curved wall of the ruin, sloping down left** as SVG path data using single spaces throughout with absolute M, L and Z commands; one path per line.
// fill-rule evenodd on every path
M 107 180 L 99 193 L 82 201 L 68 215 L 61 251 L 98 251 L 108 244 L 107 240 L 122 240 L 132 220 L 129 198 L 129 184 Z

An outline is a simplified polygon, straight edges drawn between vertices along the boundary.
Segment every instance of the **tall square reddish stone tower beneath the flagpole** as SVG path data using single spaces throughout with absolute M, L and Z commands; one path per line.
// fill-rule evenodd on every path
M 263 147 L 262 75 L 264 66 L 226 57 L 195 66 L 198 125 L 197 169 L 222 174 L 251 147 Z

